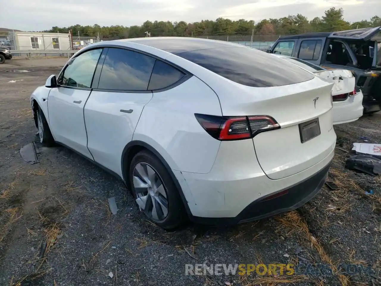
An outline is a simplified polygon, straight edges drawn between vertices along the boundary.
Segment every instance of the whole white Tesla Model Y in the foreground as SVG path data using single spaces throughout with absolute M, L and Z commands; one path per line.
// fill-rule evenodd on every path
M 328 83 L 207 39 L 94 43 L 30 98 L 40 141 L 121 178 L 165 229 L 295 209 L 322 188 L 336 134 Z

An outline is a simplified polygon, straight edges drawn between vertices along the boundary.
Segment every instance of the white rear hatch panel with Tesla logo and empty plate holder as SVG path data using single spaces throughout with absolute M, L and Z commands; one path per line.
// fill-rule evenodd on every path
M 235 102 L 223 96 L 221 88 L 218 96 L 225 116 L 265 115 L 280 125 L 280 129 L 258 133 L 252 139 L 263 172 L 276 180 L 312 167 L 335 148 L 332 86 L 315 77 L 279 87 L 237 85 Z M 224 94 L 230 92 L 233 90 L 225 88 Z

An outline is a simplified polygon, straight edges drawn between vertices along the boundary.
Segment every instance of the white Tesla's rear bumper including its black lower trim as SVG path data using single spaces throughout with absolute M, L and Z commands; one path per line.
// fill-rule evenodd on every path
M 298 208 L 322 188 L 335 148 L 333 143 L 328 156 L 308 169 L 272 180 L 259 167 L 255 154 L 250 155 L 254 153 L 252 143 L 245 141 L 248 140 L 229 142 L 235 149 L 221 144 L 220 148 L 229 148 L 234 154 L 227 160 L 227 156 L 217 156 L 208 174 L 174 171 L 193 222 L 234 225 Z M 224 162 L 220 162 L 220 158 Z M 282 196 L 269 198 L 285 190 L 288 192 Z

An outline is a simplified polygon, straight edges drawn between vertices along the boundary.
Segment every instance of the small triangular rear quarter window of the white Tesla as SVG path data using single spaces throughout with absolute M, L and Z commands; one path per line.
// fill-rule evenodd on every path
M 156 60 L 152 76 L 149 81 L 148 90 L 157 90 L 169 87 L 182 79 L 185 74 L 176 67 L 173 67 L 163 61 Z

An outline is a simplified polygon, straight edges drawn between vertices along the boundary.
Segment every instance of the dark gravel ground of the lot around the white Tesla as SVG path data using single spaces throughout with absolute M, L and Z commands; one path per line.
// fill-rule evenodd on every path
M 381 180 L 344 169 L 353 142 L 363 142 L 363 136 L 381 142 L 381 115 L 335 127 L 338 148 L 330 180 L 339 190 L 325 186 L 305 206 L 269 219 L 232 228 L 189 223 L 168 233 L 145 219 L 123 183 L 72 151 L 41 146 L 38 164 L 21 159 L 19 149 L 38 141 L 30 93 L 58 74 L 66 60 L 14 59 L 0 65 L 0 285 L 381 282 Z M 365 194 L 370 190 L 373 195 Z M 112 196 L 116 215 L 107 204 Z M 204 262 L 293 264 L 298 272 L 185 275 L 186 264 Z M 346 272 L 338 270 L 339 263 L 363 266 Z M 319 264 L 332 273 L 314 272 Z M 359 272 L 367 266 L 371 273 Z

